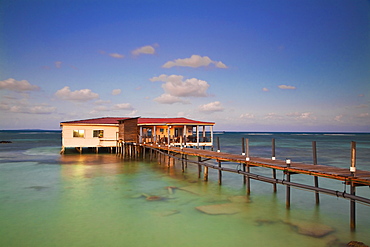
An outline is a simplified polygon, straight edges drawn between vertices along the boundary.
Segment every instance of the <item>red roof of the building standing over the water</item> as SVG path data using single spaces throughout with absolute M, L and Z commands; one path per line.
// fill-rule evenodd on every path
M 62 124 L 117 124 L 119 120 L 131 119 L 129 117 L 102 117 L 102 118 L 92 118 L 84 120 L 75 120 L 61 122 Z M 160 125 L 160 124 L 187 124 L 187 125 L 214 125 L 213 122 L 202 122 L 196 121 L 188 118 L 138 118 L 139 125 Z

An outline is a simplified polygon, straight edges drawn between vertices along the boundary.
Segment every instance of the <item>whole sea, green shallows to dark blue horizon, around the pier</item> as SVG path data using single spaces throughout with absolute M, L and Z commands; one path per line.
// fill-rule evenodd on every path
M 357 169 L 370 171 L 370 134 L 219 132 L 221 151 L 241 153 L 249 139 L 250 156 L 349 168 L 350 143 L 357 144 Z M 350 230 L 349 204 L 343 198 L 251 180 L 217 171 L 209 181 L 198 167 L 171 167 L 148 159 L 69 150 L 60 155 L 60 131 L 0 131 L 0 246 L 343 246 L 370 244 L 370 206 L 356 203 L 356 231 Z M 235 167 L 237 164 L 223 163 Z M 271 176 L 271 170 L 251 168 Z M 278 178 L 283 174 L 277 172 Z M 293 175 L 313 185 L 313 178 Z M 349 192 L 342 182 L 319 178 L 320 186 Z M 368 186 L 356 194 L 370 198 Z M 217 212 L 223 212 L 217 214 Z M 216 213 L 215 213 L 216 212 Z

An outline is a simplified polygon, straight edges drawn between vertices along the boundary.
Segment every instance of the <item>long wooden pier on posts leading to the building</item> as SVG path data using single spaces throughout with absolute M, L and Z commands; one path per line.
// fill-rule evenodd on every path
M 217 140 L 218 143 L 218 140 Z M 294 162 L 290 159 L 278 160 L 275 158 L 275 140 L 272 140 L 272 156 L 270 158 L 250 157 L 248 139 L 242 141 L 242 153 L 230 154 L 221 152 L 219 150 L 219 143 L 217 151 L 189 148 L 186 146 L 174 145 L 159 145 L 155 143 L 129 143 L 127 146 L 122 145 L 121 155 L 129 155 L 130 157 L 148 157 L 152 160 L 157 158 L 158 162 L 168 165 L 171 159 L 181 161 L 182 171 L 184 172 L 188 163 L 198 165 L 199 178 L 202 177 L 203 171 L 204 181 L 208 181 L 208 170 L 218 170 L 218 183 L 222 184 L 222 172 L 237 173 L 243 176 L 243 182 L 246 184 L 246 193 L 251 193 L 250 179 L 259 180 L 273 184 L 273 191 L 277 191 L 277 184 L 286 186 L 286 208 L 290 208 L 290 188 L 300 188 L 304 190 L 311 190 L 315 192 L 316 203 L 319 204 L 319 193 L 329 194 L 336 197 L 341 197 L 350 200 L 350 228 L 356 228 L 356 201 L 370 206 L 370 198 L 364 198 L 356 195 L 356 187 L 370 186 L 370 171 L 356 170 L 356 143 L 352 142 L 351 146 L 351 167 L 348 169 L 333 167 L 329 165 L 318 165 L 316 155 L 316 142 L 312 142 L 313 147 L 313 164 L 305 164 Z M 124 146 L 126 146 L 124 148 Z M 192 159 L 189 156 L 193 157 Z M 167 158 L 166 158 L 167 157 Z M 163 162 L 162 162 L 163 159 Z M 211 161 L 211 162 L 210 162 Z M 213 161 L 213 162 L 212 162 Z M 222 166 L 222 162 L 235 163 L 235 168 Z M 252 167 L 263 167 L 272 170 L 271 177 L 259 175 L 251 172 Z M 204 169 L 203 169 L 204 168 Z M 276 178 L 276 171 L 283 172 L 283 179 Z M 313 185 L 301 184 L 291 181 L 291 176 L 294 174 L 309 175 L 314 178 Z M 318 178 L 329 178 L 343 182 L 350 186 L 350 192 L 336 191 L 319 187 Z

